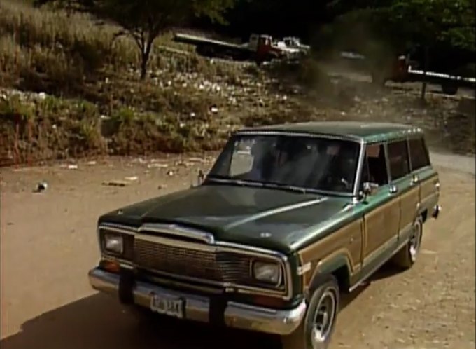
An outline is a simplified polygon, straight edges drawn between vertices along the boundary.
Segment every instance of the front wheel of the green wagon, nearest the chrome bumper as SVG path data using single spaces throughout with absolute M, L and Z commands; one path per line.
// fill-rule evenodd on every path
M 337 313 L 339 313 L 339 284 L 333 275 L 325 275 L 319 280 L 316 288 L 307 302 L 306 316 L 292 334 L 281 337 L 282 349 L 326 349 L 335 329 Z M 328 302 L 333 302 L 329 306 Z M 327 310 L 324 310 L 327 309 Z M 319 311 L 321 310 L 321 311 Z M 325 312 L 324 315 L 323 311 Z M 323 334 L 319 337 L 316 322 L 323 324 Z M 314 338 L 314 345 L 313 345 Z

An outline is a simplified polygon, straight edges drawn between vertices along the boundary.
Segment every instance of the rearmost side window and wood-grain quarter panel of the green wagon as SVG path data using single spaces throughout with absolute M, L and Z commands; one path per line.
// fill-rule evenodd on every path
M 408 140 L 412 178 L 419 186 L 419 213 L 428 215 L 439 196 L 440 180 L 430 164 L 430 156 L 423 136 Z

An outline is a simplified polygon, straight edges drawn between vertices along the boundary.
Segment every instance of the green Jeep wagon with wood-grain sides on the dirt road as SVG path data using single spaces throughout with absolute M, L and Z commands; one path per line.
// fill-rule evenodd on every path
M 439 197 L 411 125 L 247 128 L 200 185 L 100 217 L 90 283 L 134 309 L 327 348 L 339 295 L 386 261 L 410 268 Z

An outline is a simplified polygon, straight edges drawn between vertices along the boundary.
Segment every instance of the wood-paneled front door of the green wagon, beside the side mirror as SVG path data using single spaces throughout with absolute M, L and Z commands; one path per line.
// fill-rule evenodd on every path
M 388 259 L 398 242 L 400 203 L 389 184 L 384 144 L 367 144 L 360 188 L 365 182 L 377 185 L 374 192 L 360 202 L 364 217 L 363 277 Z

